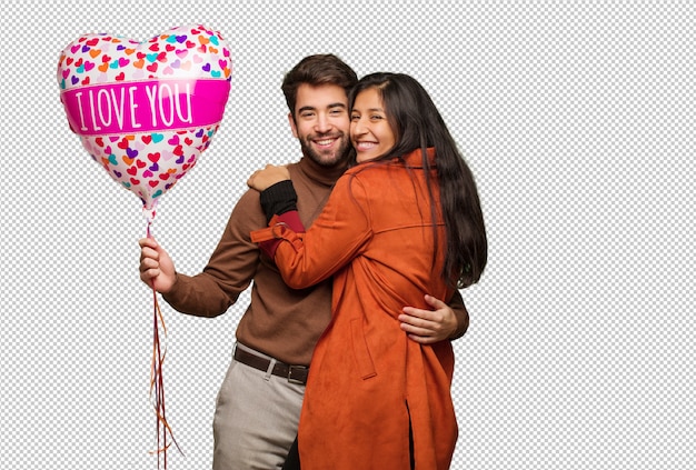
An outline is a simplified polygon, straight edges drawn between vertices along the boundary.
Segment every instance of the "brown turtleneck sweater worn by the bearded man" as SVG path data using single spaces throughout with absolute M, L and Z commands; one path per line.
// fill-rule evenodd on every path
M 320 168 L 302 158 L 290 164 L 289 171 L 300 219 L 309 227 L 344 168 Z M 288 288 L 274 261 L 249 239 L 250 232 L 266 226 L 259 193 L 247 191 L 203 271 L 193 277 L 177 273 L 173 289 L 163 298 L 180 312 L 217 317 L 251 283 L 251 302 L 237 327 L 237 340 L 282 362 L 309 366 L 331 317 L 331 281 L 307 289 Z

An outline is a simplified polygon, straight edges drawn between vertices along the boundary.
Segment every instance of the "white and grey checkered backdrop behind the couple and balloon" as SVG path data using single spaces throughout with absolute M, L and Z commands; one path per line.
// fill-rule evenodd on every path
M 409 73 L 467 156 L 489 236 L 464 291 L 453 468 L 694 468 L 687 1 L 24 3 L 0 20 L 2 468 L 157 467 L 140 202 L 68 130 L 54 73 L 82 33 L 191 22 L 221 32 L 235 71 L 219 132 L 155 221 L 180 271 L 202 269 L 253 169 L 299 157 L 280 81 L 300 58 Z M 171 469 L 210 467 L 246 303 L 205 320 L 162 302 L 186 453 Z

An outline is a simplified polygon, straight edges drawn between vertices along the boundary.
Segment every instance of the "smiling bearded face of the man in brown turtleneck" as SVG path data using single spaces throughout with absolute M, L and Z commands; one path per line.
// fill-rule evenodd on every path
M 289 120 L 305 157 L 322 167 L 335 167 L 348 158 L 350 119 L 348 97 L 341 87 L 300 84 L 295 119 L 289 114 Z

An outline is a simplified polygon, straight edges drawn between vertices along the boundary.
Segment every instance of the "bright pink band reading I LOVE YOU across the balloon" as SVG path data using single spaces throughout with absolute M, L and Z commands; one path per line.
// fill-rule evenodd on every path
M 216 124 L 228 80 L 148 80 L 73 88 L 61 93 L 70 128 L 81 136 Z

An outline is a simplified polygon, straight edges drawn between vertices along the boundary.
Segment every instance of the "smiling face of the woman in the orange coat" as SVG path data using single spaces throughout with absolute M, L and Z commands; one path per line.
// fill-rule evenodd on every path
M 382 156 L 396 144 L 381 97 L 375 88 L 360 91 L 355 99 L 350 113 L 350 140 L 358 163 Z

